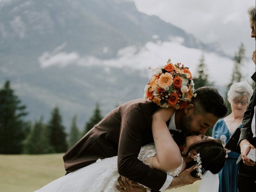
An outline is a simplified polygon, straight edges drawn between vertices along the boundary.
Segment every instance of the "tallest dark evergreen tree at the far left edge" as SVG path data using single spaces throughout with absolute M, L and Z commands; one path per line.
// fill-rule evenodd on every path
M 0 90 L 0 154 L 20 154 L 26 138 L 26 106 L 10 87 L 10 81 Z

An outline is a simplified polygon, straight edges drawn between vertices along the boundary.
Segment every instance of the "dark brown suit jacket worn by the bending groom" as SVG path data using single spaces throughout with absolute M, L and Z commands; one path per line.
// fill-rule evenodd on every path
M 153 142 L 154 102 L 137 99 L 122 104 L 107 114 L 63 156 L 67 172 L 118 155 L 118 172 L 153 190 L 159 190 L 166 174 L 138 160 L 141 146 Z

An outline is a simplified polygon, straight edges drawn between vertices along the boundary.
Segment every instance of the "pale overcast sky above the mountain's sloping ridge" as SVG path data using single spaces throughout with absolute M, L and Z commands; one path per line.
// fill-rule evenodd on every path
M 134 0 L 140 12 L 159 16 L 199 40 L 217 43 L 231 56 L 241 42 L 251 57 L 255 40 L 250 37 L 247 10 L 255 0 Z

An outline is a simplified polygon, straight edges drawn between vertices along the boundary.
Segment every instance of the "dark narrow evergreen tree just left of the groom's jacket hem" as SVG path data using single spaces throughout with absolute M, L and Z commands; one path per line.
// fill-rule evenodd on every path
M 50 144 L 54 148 L 56 153 L 65 152 L 68 148 L 66 141 L 65 128 L 62 125 L 62 117 L 58 107 L 54 108 L 52 111 L 52 117 L 48 123 L 47 135 L 50 139 Z

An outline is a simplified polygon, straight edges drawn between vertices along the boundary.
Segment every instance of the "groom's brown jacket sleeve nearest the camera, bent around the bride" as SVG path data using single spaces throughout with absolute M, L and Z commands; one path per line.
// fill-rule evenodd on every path
M 150 126 L 151 129 L 151 115 L 145 114 L 145 111 L 141 111 L 138 106 L 130 107 L 122 115 L 118 147 L 118 172 L 130 180 L 158 191 L 166 181 L 166 173 L 152 169 L 138 160 L 147 126 Z

